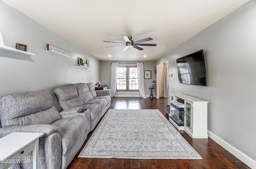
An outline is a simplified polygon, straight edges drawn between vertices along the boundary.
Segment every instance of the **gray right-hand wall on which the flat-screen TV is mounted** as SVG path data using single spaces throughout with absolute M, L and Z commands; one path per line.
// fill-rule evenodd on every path
M 170 92 L 209 101 L 208 130 L 256 160 L 256 0 L 184 42 L 169 60 Z M 196 23 L 195 23 L 196 24 Z M 176 59 L 204 50 L 208 87 L 178 83 Z

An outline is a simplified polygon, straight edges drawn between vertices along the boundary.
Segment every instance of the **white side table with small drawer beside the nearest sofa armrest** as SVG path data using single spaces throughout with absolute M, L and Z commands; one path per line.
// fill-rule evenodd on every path
M 33 153 L 33 169 L 38 168 L 39 137 L 44 133 L 14 132 L 0 138 L 0 169 L 12 168 L 14 163 L 30 153 Z M 31 161 L 20 161 L 30 163 Z

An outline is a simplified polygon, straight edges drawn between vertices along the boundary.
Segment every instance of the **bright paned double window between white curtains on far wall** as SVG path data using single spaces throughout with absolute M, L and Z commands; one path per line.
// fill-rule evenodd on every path
M 116 91 L 139 91 L 136 66 L 118 66 Z

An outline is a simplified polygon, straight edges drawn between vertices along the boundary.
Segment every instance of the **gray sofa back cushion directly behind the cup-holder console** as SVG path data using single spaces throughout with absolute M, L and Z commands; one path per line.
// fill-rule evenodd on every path
M 78 107 L 84 105 L 84 102 L 78 97 L 75 86 L 58 87 L 53 90 L 56 95 L 60 108 L 63 110 L 71 107 Z

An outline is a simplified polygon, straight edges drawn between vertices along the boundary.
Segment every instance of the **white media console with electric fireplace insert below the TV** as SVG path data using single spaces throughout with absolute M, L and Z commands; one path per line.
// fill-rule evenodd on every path
M 193 139 L 207 139 L 207 104 L 209 101 L 183 93 L 169 93 L 169 121 Z M 182 103 L 184 101 L 184 103 Z

